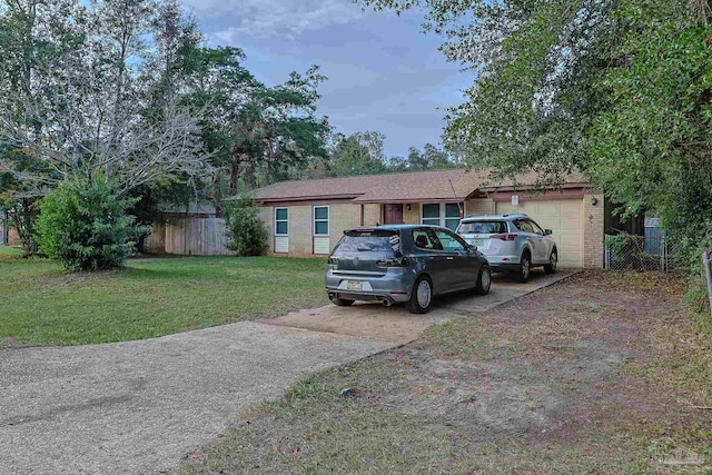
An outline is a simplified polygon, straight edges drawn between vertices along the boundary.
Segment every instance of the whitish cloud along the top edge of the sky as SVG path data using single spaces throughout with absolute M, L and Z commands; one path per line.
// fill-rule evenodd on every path
M 352 0 L 184 0 L 204 19 L 231 23 L 212 36 L 234 43 L 240 37 L 286 37 L 344 24 L 364 16 Z

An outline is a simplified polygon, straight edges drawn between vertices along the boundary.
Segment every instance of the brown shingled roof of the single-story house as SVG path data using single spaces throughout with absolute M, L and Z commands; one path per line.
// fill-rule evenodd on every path
M 492 186 L 488 184 L 488 176 L 486 170 L 458 169 L 279 181 L 257 189 L 255 198 L 263 202 L 316 199 L 352 199 L 362 204 L 463 201 L 478 190 L 514 186 L 511 180 Z M 523 176 L 517 178 L 517 186 L 525 188 L 535 181 L 535 175 Z M 582 185 L 577 176 L 571 176 L 567 182 Z

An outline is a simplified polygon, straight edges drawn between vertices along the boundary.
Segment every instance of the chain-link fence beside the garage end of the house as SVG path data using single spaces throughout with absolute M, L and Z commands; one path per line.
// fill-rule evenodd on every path
M 674 271 L 678 266 L 672 256 L 673 253 L 665 236 L 645 237 L 629 234 L 605 236 L 604 267 L 606 269 Z

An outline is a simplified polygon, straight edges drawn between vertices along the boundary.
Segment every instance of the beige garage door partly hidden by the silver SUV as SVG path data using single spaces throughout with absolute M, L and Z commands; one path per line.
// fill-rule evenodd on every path
M 497 214 L 524 212 L 542 228 L 551 229 L 561 267 L 583 267 L 583 200 L 497 201 Z

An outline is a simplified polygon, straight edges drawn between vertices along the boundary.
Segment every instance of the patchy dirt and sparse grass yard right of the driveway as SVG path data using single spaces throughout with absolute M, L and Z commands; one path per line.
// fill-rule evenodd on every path
M 260 406 L 185 472 L 712 473 L 712 348 L 681 290 L 589 271 L 435 325 Z

